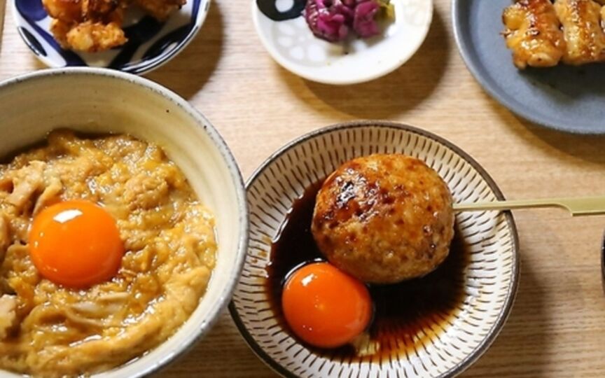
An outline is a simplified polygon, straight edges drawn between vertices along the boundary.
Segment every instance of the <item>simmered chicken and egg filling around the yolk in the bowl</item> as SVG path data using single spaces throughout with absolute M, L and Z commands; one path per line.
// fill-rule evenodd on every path
M 113 279 L 86 290 L 43 279 L 29 258 L 32 218 L 74 199 L 102 204 L 126 251 Z M 187 320 L 214 267 L 214 216 L 155 144 L 53 132 L 0 165 L 0 251 L 0 367 L 85 374 L 139 356 Z

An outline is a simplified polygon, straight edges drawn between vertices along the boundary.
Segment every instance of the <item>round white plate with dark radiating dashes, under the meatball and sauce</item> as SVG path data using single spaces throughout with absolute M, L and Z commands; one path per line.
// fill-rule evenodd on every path
M 454 201 L 502 200 L 489 175 L 448 141 L 415 127 L 348 123 L 296 139 L 272 155 L 247 184 L 250 244 L 230 311 L 244 339 L 285 377 L 453 377 L 484 353 L 513 306 L 519 276 L 517 232 L 510 213 L 457 214 L 468 259 L 455 284 L 461 304 L 423 320 L 412 337 L 392 339 L 373 358 L 330 358 L 301 344 L 267 297 L 271 241 L 291 204 L 343 162 L 371 153 L 424 160 L 445 179 Z M 413 306 L 414 303 L 402 303 Z M 447 320 L 444 320 L 447 319 Z

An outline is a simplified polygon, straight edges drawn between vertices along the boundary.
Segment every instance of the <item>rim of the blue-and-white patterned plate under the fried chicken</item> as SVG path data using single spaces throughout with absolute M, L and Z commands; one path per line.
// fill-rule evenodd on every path
M 106 66 L 103 66 L 103 67 L 88 66 L 88 63 L 85 66 L 59 66 L 56 64 L 56 62 L 53 59 L 49 59 L 48 57 L 41 56 L 38 52 L 36 52 L 36 50 L 32 47 L 32 45 L 29 43 L 29 41 L 27 41 L 27 38 L 25 38 L 25 36 L 23 36 L 23 33 L 21 31 L 21 22 L 19 22 L 19 19 L 18 19 L 19 11 L 17 9 L 17 1 L 20 1 L 20 0 L 11 0 L 11 13 L 13 15 L 13 24 L 15 25 L 15 28 L 17 29 L 18 34 L 21 37 L 23 43 L 25 43 L 25 45 L 27 45 L 27 48 L 29 48 L 30 52 L 32 52 L 32 54 L 36 57 L 36 59 L 38 59 L 40 62 L 42 62 L 42 64 L 45 64 L 50 69 L 60 69 L 60 68 L 69 68 L 69 67 L 88 67 L 91 69 L 97 69 L 97 68 L 111 69 Z M 185 48 L 187 48 L 187 46 L 193 41 L 193 38 L 195 38 L 195 36 L 197 36 L 198 31 L 200 31 L 200 29 L 202 29 L 202 25 L 204 25 L 204 22 L 206 21 L 212 0 L 200 0 L 200 1 L 205 1 L 206 5 L 200 6 L 200 10 L 198 10 L 197 15 L 195 16 L 195 22 L 193 22 L 193 27 L 192 27 L 191 31 L 189 31 L 189 33 L 185 36 L 185 38 L 183 38 L 182 41 L 179 41 L 179 44 L 176 46 L 176 48 L 172 49 L 169 53 L 167 53 L 167 55 L 163 56 L 161 59 L 150 59 L 148 62 L 151 62 L 151 63 L 149 63 L 149 64 L 142 65 L 142 63 L 144 61 L 141 60 L 138 64 L 135 64 L 133 66 L 132 70 L 124 71 L 123 67 L 116 68 L 113 70 L 122 71 L 125 73 L 132 73 L 135 75 L 143 75 L 144 73 L 150 73 L 151 71 L 155 71 L 156 69 L 159 69 L 161 66 L 167 64 L 174 57 L 176 57 L 176 55 L 179 55 L 179 53 L 182 52 L 183 50 L 185 50 Z M 50 33 L 50 31 L 49 31 L 49 33 Z M 74 53 L 76 53 L 76 52 L 74 52 Z M 139 65 L 142 65 L 142 67 L 137 68 Z

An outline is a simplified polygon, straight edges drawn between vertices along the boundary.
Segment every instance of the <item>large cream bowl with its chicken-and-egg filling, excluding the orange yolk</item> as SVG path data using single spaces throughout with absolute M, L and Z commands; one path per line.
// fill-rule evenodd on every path
M 246 246 L 243 184 L 220 136 L 172 92 L 98 69 L 0 83 L 0 113 L 0 307 L 15 307 L 0 377 L 139 377 L 186 351 L 228 301 Z M 61 127 L 105 136 L 54 132 L 22 149 Z M 116 220 L 125 254 L 109 281 L 76 290 L 36 272 L 29 224 L 65 200 Z

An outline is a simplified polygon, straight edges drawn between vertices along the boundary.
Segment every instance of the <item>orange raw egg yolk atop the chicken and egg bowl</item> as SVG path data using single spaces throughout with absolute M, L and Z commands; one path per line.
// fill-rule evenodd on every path
M 69 288 L 87 288 L 118 272 L 124 244 L 106 210 L 88 201 L 67 201 L 34 218 L 29 254 L 46 279 Z

